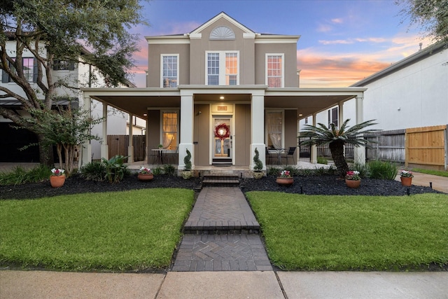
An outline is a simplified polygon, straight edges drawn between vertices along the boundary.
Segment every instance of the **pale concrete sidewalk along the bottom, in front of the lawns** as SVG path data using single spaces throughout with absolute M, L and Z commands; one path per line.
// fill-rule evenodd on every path
M 0 271 L 0 298 L 448 298 L 448 272 Z

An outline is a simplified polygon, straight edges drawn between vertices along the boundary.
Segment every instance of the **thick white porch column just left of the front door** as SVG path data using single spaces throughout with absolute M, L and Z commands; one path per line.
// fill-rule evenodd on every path
M 184 92 L 188 92 L 185 90 Z M 193 153 L 193 94 L 183 93 L 181 90 L 181 143 L 179 143 L 179 166 L 182 170 L 185 167 L 183 158 L 187 155 L 187 149 L 191 153 L 191 167 L 195 165 L 195 155 Z

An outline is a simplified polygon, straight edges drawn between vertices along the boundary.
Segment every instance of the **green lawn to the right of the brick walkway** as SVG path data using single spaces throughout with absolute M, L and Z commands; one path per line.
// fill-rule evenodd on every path
M 448 265 L 448 195 L 247 194 L 272 263 L 285 270 Z

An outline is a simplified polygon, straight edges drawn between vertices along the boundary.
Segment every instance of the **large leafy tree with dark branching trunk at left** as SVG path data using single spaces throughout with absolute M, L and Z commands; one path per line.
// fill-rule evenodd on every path
M 80 87 L 53 78 L 52 69 L 59 61 L 94 66 L 108 86 L 125 82 L 133 66 L 132 54 L 138 50 L 138 36 L 127 29 L 145 24 L 141 11 L 139 0 L 2 0 L 0 69 L 2 76 L 20 87 L 20 92 L 1 85 L 0 99 L 16 99 L 34 116 L 42 115 L 36 110 L 50 112 L 57 99 L 56 88 Z M 8 47 L 11 41 L 15 43 L 13 48 Z M 30 55 L 36 61 L 33 71 L 23 65 L 23 59 Z M 42 115 L 29 123 L 4 106 L 0 106 L 0 115 L 36 133 L 40 160 L 48 163 L 45 136 L 37 128 L 40 122 L 52 118 Z

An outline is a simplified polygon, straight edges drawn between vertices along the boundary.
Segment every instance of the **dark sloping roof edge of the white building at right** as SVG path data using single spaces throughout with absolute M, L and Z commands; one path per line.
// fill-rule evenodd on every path
M 404 69 L 405 67 L 408 67 L 411 64 L 414 64 L 416 62 L 419 62 L 421 60 L 426 59 L 427 57 L 430 57 L 436 53 L 440 53 L 443 50 L 447 50 L 447 43 L 439 42 L 434 43 L 431 46 L 428 46 L 424 48 L 423 50 L 419 50 L 418 52 L 409 55 L 403 60 L 400 60 L 399 62 L 395 62 L 394 64 L 391 64 L 390 67 L 386 67 L 386 69 L 382 69 L 381 71 L 378 71 L 377 73 L 368 76 L 367 78 L 364 78 L 361 81 L 358 81 L 350 87 L 358 87 L 358 86 L 365 86 L 369 83 L 372 83 L 374 81 L 377 81 L 381 78 L 384 78 L 385 76 L 388 76 L 390 74 L 393 74 L 395 71 L 399 71 L 400 69 Z

